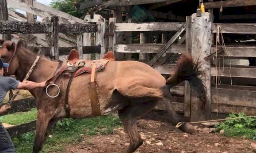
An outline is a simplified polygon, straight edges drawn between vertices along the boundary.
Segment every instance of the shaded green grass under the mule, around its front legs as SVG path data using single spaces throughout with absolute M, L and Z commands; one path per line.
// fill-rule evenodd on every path
M 65 144 L 83 141 L 85 136 L 95 134 L 111 134 L 113 129 L 120 127 L 121 122 L 117 117 L 98 116 L 88 119 L 61 119 L 53 128 L 52 138 L 47 138 L 42 153 L 52 151 L 64 151 Z M 16 147 L 15 153 L 31 153 L 35 138 L 35 132 L 22 134 L 13 138 Z

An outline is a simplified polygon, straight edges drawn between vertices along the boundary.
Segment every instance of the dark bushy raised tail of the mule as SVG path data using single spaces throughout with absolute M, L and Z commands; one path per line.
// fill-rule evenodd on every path
M 182 54 L 177 63 L 174 75 L 166 80 L 166 86 L 163 87 L 164 93 L 170 94 L 170 88 L 178 85 L 185 80 L 189 81 L 192 93 L 195 97 L 206 104 L 206 87 L 199 75 L 203 75 L 203 71 L 199 71 L 200 63 L 195 63 L 188 54 Z M 168 93 L 167 93 L 168 92 Z

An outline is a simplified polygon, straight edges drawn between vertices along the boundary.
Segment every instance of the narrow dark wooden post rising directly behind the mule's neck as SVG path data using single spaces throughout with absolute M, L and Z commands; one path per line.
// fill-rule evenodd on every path
M 59 60 L 59 18 L 53 16 L 51 18 L 53 22 L 53 49 L 54 49 L 54 59 Z

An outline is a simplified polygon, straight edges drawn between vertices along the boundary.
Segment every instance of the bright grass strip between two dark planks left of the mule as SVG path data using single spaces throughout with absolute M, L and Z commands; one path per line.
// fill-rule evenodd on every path
M 29 112 L 17 112 L 8 114 L 6 116 L 0 116 L 0 122 L 8 123 L 12 125 L 18 125 L 22 123 L 28 123 L 36 119 L 37 109 L 32 108 Z

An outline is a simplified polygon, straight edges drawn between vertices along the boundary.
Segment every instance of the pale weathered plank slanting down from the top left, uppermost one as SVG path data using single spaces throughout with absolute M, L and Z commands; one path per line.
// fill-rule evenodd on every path
M 73 15 L 69 15 L 62 11 L 58 11 L 53 7 L 38 3 L 36 1 L 33 2 L 33 7 L 30 7 L 23 0 L 7 0 L 8 6 L 12 8 L 18 8 L 23 11 L 27 11 L 31 14 L 38 15 L 41 17 L 53 17 L 59 16 L 60 23 L 84 23 L 84 20 L 74 17 Z

